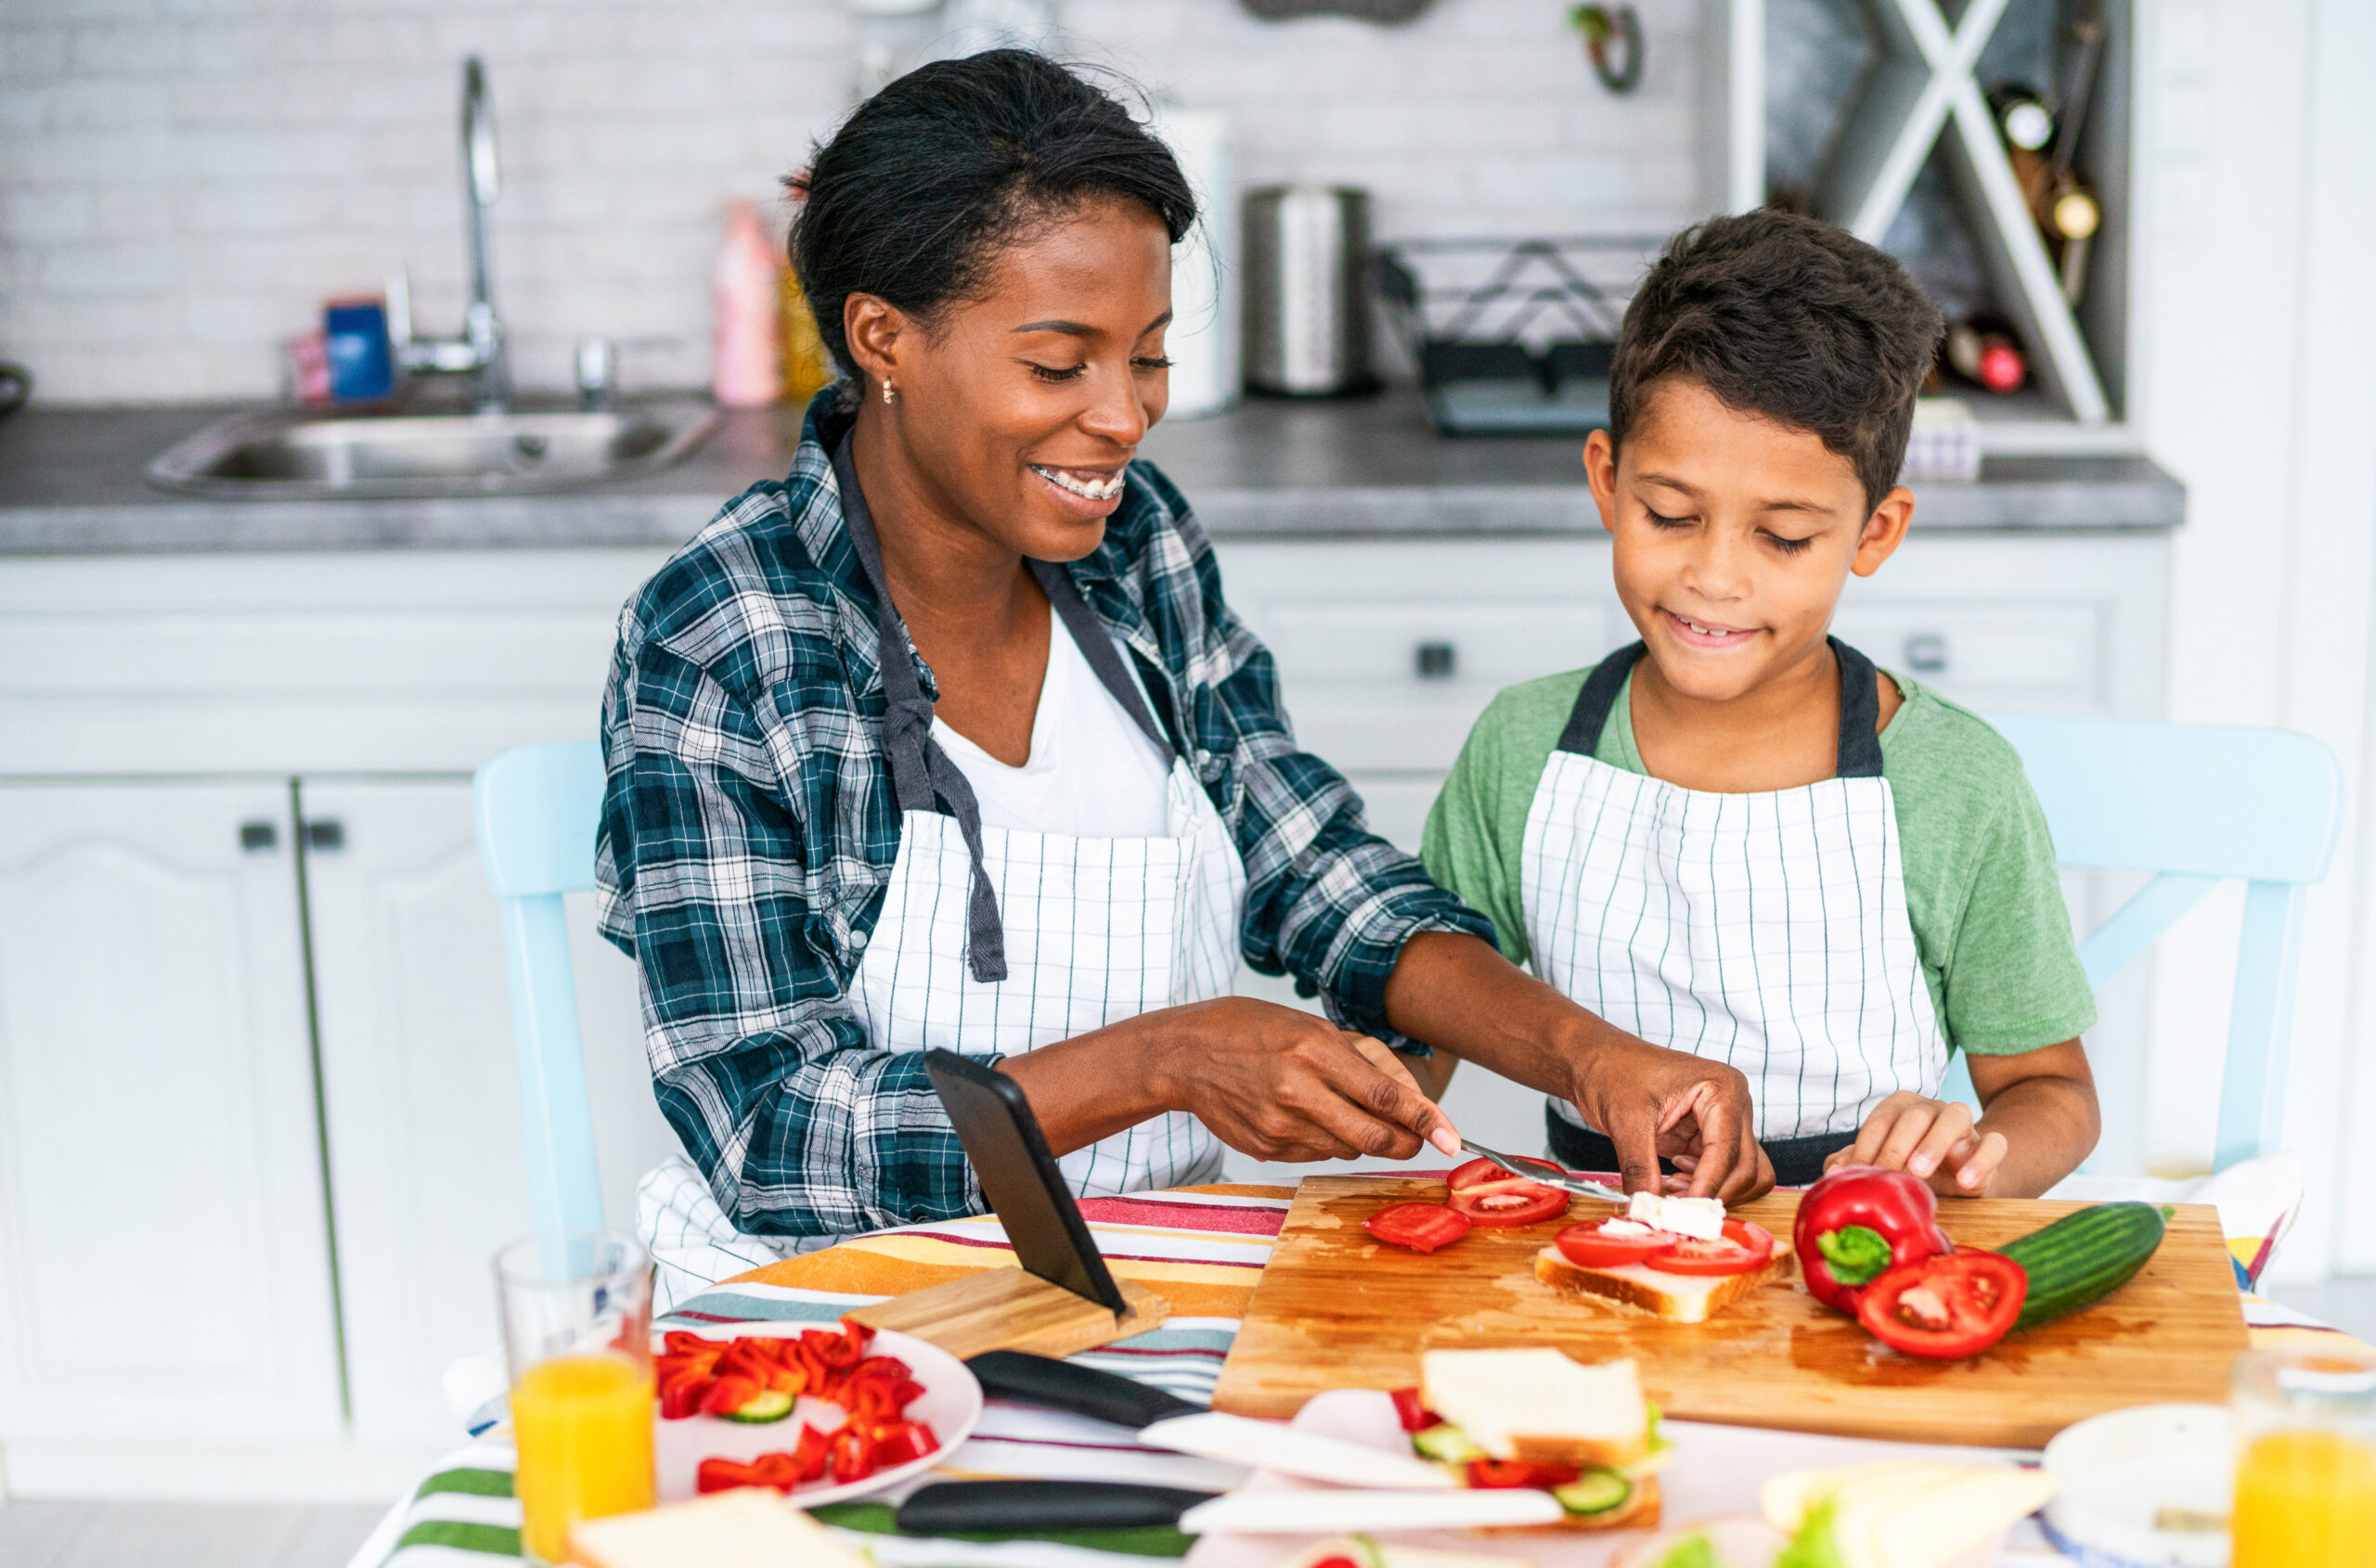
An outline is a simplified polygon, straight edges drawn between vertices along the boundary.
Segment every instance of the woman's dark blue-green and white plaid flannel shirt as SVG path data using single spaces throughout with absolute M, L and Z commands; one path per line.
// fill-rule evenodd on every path
M 922 1052 L 877 1050 L 851 1005 L 901 810 L 874 594 L 829 459 L 846 428 L 820 397 L 791 475 L 634 594 L 604 691 L 601 929 L 637 960 L 663 1114 L 734 1224 L 772 1235 L 981 1212 Z M 1162 473 L 1131 463 L 1105 544 L 1069 570 L 1245 858 L 1245 962 L 1385 1036 L 1402 943 L 1492 927 L 1295 748 L 1271 656 Z

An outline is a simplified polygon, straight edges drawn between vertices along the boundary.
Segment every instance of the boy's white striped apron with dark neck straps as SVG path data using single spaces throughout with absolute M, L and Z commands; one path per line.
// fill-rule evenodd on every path
M 1784 1186 L 1822 1174 L 1889 1093 L 1936 1095 L 1946 1038 L 1922 981 L 1872 660 L 1839 660 L 1837 777 L 1768 794 L 1680 789 L 1594 760 L 1642 644 L 1592 670 L 1525 820 L 1535 972 L 1654 1045 L 1749 1076 Z M 1554 1100 L 1552 1150 L 1616 1169 Z

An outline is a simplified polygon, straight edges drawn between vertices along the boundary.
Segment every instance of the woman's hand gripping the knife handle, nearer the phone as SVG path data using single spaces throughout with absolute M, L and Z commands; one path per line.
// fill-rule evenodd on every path
M 1452 1119 L 1378 1041 L 1328 1019 L 1224 995 L 1167 1007 L 1143 1071 L 1167 1109 L 1257 1159 L 1409 1159 L 1426 1143 L 1459 1155 Z

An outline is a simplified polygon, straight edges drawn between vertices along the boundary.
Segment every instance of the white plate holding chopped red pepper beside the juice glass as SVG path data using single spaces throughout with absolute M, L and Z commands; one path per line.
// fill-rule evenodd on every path
M 682 1333 L 699 1333 L 703 1340 L 789 1340 L 803 1328 L 839 1326 L 703 1323 Z M 658 1335 L 653 1335 L 653 1347 L 658 1347 Z M 941 1440 L 941 1447 L 922 1459 L 910 1459 L 903 1466 L 877 1471 L 865 1480 L 851 1480 L 843 1485 L 810 1482 L 805 1487 L 794 1487 L 791 1501 L 803 1509 L 865 1497 L 870 1492 L 881 1492 L 884 1487 L 896 1487 L 912 1475 L 922 1475 L 931 1466 L 948 1459 L 960 1442 L 972 1437 L 974 1423 L 981 1421 L 981 1385 L 974 1383 L 974 1373 L 965 1368 L 965 1361 L 948 1354 L 939 1345 L 927 1345 L 924 1340 L 879 1328 L 874 1330 L 874 1342 L 867 1347 L 867 1354 L 898 1357 L 908 1364 L 908 1371 L 924 1385 L 924 1392 L 917 1395 L 915 1404 L 910 1404 L 905 1414 L 910 1421 L 924 1421 L 931 1425 L 931 1435 Z M 722 1416 L 661 1421 L 653 1433 L 653 1466 L 658 1468 L 661 1501 L 684 1501 L 687 1497 L 694 1497 L 694 1482 L 703 1459 L 734 1459 L 739 1463 L 751 1463 L 760 1454 L 789 1454 L 794 1444 L 801 1442 L 803 1421 L 829 1433 L 841 1425 L 841 1416 L 843 1411 L 839 1404 L 803 1395 L 789 1416 L 765 1425 L 725 1421 Z

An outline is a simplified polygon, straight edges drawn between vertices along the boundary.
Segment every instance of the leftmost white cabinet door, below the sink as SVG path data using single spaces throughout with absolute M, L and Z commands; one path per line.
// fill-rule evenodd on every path
M 0 1442 L 340 1433 L 290 786 L 0 786 Z

